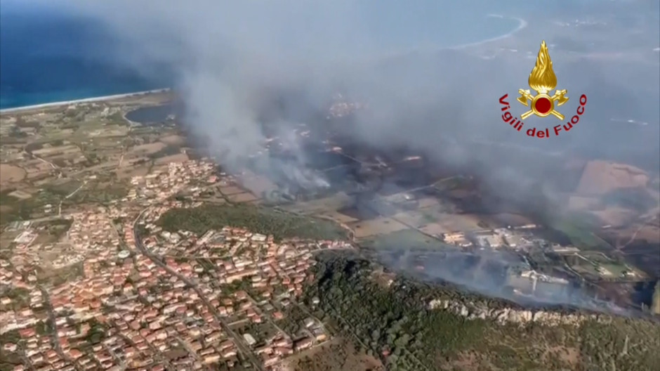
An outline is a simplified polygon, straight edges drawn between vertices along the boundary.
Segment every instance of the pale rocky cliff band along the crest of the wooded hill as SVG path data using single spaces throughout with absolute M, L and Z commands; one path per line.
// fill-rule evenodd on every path
M 488 308 L 474 302 L 462 303 L 444 299 L 433 299 L 428 304 L 431 310 L 451 311 L 462 315 L 469 320 L 480 318 L 482 320 L 494 320 L 501 325 L 517 323 L 539 323 L 548 326 L 580 325 L 587 320 L 595 320 L 600 323 L 609 323 L 612 318 L 608 315 L 560 313 L 554 311 L 530 311 L 515 308 Z

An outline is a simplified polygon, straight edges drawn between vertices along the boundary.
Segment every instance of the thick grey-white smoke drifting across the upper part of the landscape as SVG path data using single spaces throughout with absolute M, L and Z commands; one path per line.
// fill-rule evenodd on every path
M 112 58 L 145 74 L 156 65 L 172 67 L 185 101 L 185 122 L 230 170 L 240 169 L 246 158 L 262 150 L 268 136 L 286 141 L 298 120 L 326 110 L 335 93 L 369 105 L 343 128 L 353 140 L 383 150 L 418 150 L 456 166 L 476 161 L 484 178 L 502 193 L 553 176 L 547 171 L 534 175 L 508 162 L 508 153 L 520 148 L 520 162 L 539 168 L 548 154 L 563 151 L 614 160 L 631 156 L 640 166 L 655 166 L 660 156 L 660 75 L 658 53 L 652 50 L 659 44 L 657 20 L 636 15 L 625 20 L 624 29 L 623 21 L 614 19 L 619 4 L 598 2 L 603 8 L 591 16 L 584 12 L 593 7 L 582 1 L 560 1 L 550 10 L 557 21 L 600 17 L 608 22 L 569 32 L 541 19 L 525 3 L 117 0 L 67 1 L 65 9 L 107 27 Z M 623 6 L 648 6 L 635 4 Z M 466 34 L 489 39 L 515 29 L 514 21 L 510 30 L 482 30 L 489 13 L 524 18 L 530 25 L 535 22 L 534 27 L 513 34 L 516 51 L 502 50 L 501 41 L 446 49 L 478 41 L 465 39 Z M 589 97 L 580 126 L 543 140 L 503 123 L 498 103 L 508 93 L 517 104 L 517 89 L 527 88 L 541 39 L 551 46 L 557 88 L 569 90 L 565 115 L 573 115 L 569 111 L 581 93 Z M 634 52 L 616 55 L 630 40 L 635 40 Z M 486 58 L 490 56 L 494 58 Z M 270 124 L 270 135 L 264 124 Z M 296 148 L 295 138 L 289 139 Z M 494 143 L 505 144 L 487 155 L 475 150 Z M 289 162 L 271 159 L 263 167 L 277 167 L 295 178 L 309 154 L 302 148 L 293 153 Z M 313 181 L 318 185 L 324 179 Z M 475 282 L 444 268 L 434 270 L 438 277 L 468 286 Z M 477 289 L 494 292 L 494 287 Z

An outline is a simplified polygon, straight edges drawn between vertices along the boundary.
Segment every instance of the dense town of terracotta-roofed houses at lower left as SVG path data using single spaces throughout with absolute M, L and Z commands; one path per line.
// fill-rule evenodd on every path
M 206 370 L 242 363 L 274 370 L 287 356 L 330 340 L 298 297 L 312 279 L 312 254 L 350 249 L 348 243 L 275 242 L 230 227 L 169 233 L 156 226 L 168 209 L 197 205 L 168 199 L 192 179 L 218 181 L 212 168 L 171 163 L 132 179 L 135 188 L 124 200 L 131 207 L 119 201 L 106 212 L 62 216 L 72 223 L 58 243 L 68 246 L 51 264 L 79 266 L 80 275 L 56 285 L 41 282 L 35 269 L 45 264 L 44 250 L 55 247 L 35 244 L 38 231 L 30 223 L 12 227 L 13 254 L 0 260 L 0 280 L 11 287 L 2 297 L 0 327 L 15 334 L 2 344 L 5 354 L 22 360 L 13 370 Z M 117 226 L 113 220 L 120 219 Z M 291 308 L 296 318 L 288 317 Z

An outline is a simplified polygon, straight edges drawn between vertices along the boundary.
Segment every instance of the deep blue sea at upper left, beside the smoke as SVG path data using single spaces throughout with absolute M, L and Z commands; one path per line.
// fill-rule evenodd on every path
M 152 79 L 108 63 L 109 40 L 90 22 L 21 10 L 0 13 L 0 108 L 158 89 Z

